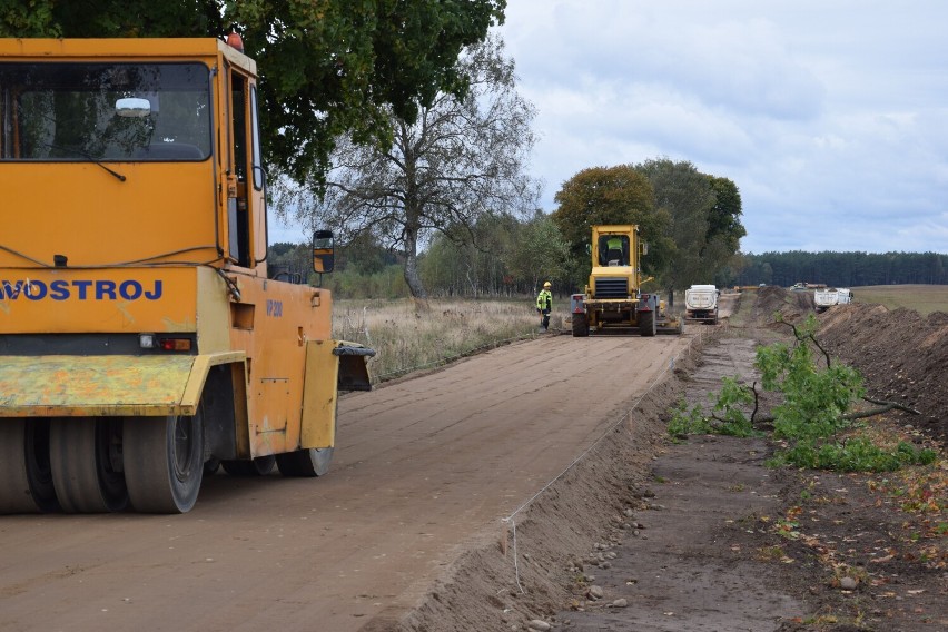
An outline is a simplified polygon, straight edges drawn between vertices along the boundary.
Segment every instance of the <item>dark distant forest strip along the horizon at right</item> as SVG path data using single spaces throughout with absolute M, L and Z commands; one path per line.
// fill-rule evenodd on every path
M 862 285 L 948 284 L 948 255 L 936 253 L 764 253 L 738 255 L 719 273 L 719 286 L 824 283 Z

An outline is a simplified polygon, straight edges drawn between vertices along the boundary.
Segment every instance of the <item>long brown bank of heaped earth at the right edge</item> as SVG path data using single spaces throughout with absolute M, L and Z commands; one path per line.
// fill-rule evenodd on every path
M 882 305 L 837 305 L 820 319 L 820 343 L 858 368 L 869 395 L 919 411 L 907 418 L 939 441 L 948 440 L 948 314 Z

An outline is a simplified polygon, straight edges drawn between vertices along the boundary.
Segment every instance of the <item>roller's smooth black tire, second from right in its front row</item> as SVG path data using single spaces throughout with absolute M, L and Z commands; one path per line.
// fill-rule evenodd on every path
M 121 419 L 117 417 L 50 422 L 50 472 L 62 511 L 108 513 L 128 506 L 125 476 L 115 467 L 120 443 Z

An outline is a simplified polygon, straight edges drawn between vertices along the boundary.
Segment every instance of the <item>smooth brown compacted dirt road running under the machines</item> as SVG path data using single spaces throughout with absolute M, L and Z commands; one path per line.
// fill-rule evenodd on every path
M 346 397 L 318 481 L 218 474 L 180 516 L 0 517 L 0 630 L 345 632 L 397 620 L 694 335 L 551 335 Z

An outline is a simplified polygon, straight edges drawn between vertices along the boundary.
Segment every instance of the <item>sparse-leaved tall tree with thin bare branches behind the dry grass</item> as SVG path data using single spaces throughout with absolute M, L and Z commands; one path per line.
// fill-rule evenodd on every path
M 456 72 L 468 82 L 464 98 L 440 92 L 431 105 L 421 103 L 417 119 L 393 111 L 395 138 L 387 151 L 340 140 L 325 195 L 322 174 L 312 175 L 308 186 L 277 191 L 279 213 L 308 224 L 318 217 L 343 243 L 371 230 L 399 250 L 416 298 L 426 296 L 418 247 L 434 231 L 466 240 L 485 214 L 523 215 L 536 206 L 537 186 L 525 172 L 535 110 L 516 92 L 503 42 L 490 37 L 473 47 Z

